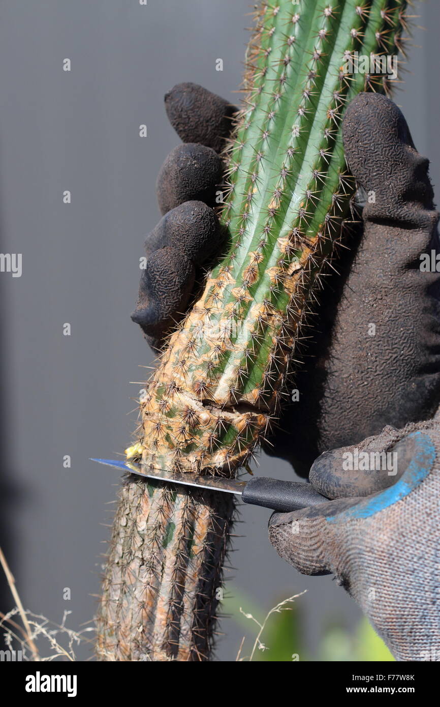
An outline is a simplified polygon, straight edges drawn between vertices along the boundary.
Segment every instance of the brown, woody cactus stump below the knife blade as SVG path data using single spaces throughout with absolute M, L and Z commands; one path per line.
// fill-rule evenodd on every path
M 100 660 L 208 660 L 230 495 L 121 489 L 98 617 Z

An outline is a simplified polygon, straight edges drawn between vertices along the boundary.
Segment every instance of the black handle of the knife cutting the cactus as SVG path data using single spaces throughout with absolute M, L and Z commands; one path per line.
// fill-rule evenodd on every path
M 288 513 L 307 506 L 325 503 L 328 498 L 321 496 L 310 484 L 304 481 L 281 481 L 269 477 L 250 479 L 242 493 L 242 501 L 253 506 L 263 506 L 272 510 Z

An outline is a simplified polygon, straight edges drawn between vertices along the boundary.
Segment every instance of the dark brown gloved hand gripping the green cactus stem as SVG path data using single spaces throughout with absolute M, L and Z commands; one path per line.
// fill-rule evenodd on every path
M 234 112 L 192 83 L 175 86 L 165 106 L 184 144 L 157 178 L 167 213 L 145 241 L 147 267 L 132 315 L 156 348 L 221 248 L 210 207 L 221 180 L 217 152 Z M 420 254 L 438 248 L 428 160 L 415 151 L 398 107 L 381 95 L 357 96 L 343 127 L 347 161 L 368 194 L 363 222 L 338 255 L 338 273 L 323 279 L 295 383 L 299 402 L 285 408 L 266 448 L 305 477 L 321 452 L 388 424 L 427 419 L 440 402 L 440 276 L 420 271 Z

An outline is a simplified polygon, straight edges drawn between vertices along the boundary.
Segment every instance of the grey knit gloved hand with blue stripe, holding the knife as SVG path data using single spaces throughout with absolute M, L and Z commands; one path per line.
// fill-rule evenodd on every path
M 314 462 L 314 489 L 338 500 L 270 519 L 280 556 L 333 573 L 397 660 L 440 661 L 439 455 L 438 420 L 388 427 Z

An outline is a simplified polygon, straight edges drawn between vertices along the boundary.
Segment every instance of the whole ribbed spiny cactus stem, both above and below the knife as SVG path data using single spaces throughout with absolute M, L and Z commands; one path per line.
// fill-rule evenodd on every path
M 143 464 L 234 474 L 266 435 L 350 220 L 345 106 L 361 90 L 390 87 L 386 76 L 347 73 L 345 61 L 396 54 L 406 5 L 279 0 L 256 10 L 246 94 L 225 149 L 227 252 L 148 381 Z M 100 604 L 101 659 L 209 659 L 232 514 L 219 493 L 124 484 Z

